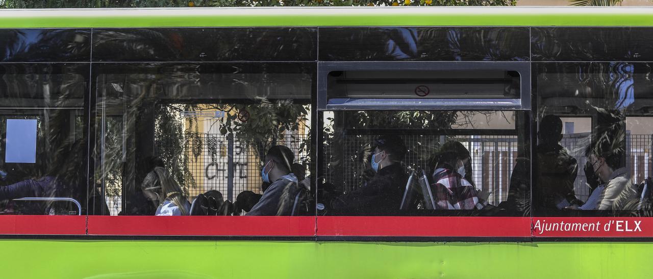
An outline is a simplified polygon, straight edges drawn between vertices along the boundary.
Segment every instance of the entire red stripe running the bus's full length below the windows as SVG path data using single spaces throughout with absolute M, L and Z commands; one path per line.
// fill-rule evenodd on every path
M 315 235 L 313 216 L 88 216 L 90 235 Z M 532 228 L 532 231 L 531 231 Z M 0 215 L 2 235 L 84 235 L 86 216 Z M 340 237 L 653 237 L 653 218 L 318 216 Z

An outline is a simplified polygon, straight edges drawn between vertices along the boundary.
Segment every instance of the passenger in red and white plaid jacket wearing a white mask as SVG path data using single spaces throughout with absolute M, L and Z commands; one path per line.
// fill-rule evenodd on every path
M 471 179 L 470 151 L 458 141 L 447 141 L 432 158 L 432 193 L 436 209 L 483 209 L 486 197 L 479 192 Z M 466 167 L 467 166 L 467 167 Z M 468 177 L 468 178 L 466 178 Z M 485 195 L 483 195 L 485 196 Z

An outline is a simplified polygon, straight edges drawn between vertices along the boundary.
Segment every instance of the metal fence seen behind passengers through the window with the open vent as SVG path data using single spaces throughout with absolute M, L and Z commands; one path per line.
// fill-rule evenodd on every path
M 369 168 L 363 160 L 362 149 L 378 135 L 347 135 L 334 137 L 325 143 L 323 164 L 324 177 L 336 186 L 342 185 L 343 192 L 355 190 L 364 182 L 364 171 Z M 439 142 L 460 141 L 471 153 L 473 182 L 478 189 L 490 192 L 490 203 L 505 201 L 508 195 L 510 176 L 517 159 L 517 136 L 437 136 L 404 135 L 408 149 L 404 159 L 407 168 L 428 169 L 428 158 Z

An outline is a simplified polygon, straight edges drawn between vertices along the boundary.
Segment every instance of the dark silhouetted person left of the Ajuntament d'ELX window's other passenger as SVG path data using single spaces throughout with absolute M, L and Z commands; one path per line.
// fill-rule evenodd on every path
M 560 145 L 562 121 L 556 115 L 547 115 L 539 123 L 537 138 L 537 166 L 535 169 L 535 195 L 541 207 L 563 209 L 569 205 L 582 205 L 576 198 L 574 181 L 578 173 L 576 159 Z

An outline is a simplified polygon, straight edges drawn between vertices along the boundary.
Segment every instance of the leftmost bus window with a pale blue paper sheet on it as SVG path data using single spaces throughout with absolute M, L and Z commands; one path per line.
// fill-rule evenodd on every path
M 0 66 L 1 214 L 82 214 L 88 72 L 81 63 Z

